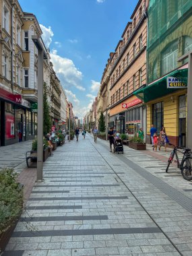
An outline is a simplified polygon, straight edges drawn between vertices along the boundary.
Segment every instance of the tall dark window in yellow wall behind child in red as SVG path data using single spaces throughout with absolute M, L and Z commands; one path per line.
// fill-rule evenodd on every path
M 154 127 L 156 127 L 158 133 L 160 133 L 160 130 L 163 126 L 163 120 L 164 120 L 164 104 L 163 102 L 158 102 L 156 104 L 152 105 L 152 123 Z

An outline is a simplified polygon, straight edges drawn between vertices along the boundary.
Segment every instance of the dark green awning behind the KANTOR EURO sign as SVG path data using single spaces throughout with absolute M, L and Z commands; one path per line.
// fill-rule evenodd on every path
M 145 88 L 138 89 L 133 92 L 133 95 L 137 96 L 143 100 L 143 102 L 149 102 L 156 98 L 160 98 L 162 96 L 166 96 L 167 94 L 172 94 L 173 92 L 177 92 L 181 89 L 170 89 L 167 88 L 167 77 L 183 77 L 186 78 L 188 76 L 188 69 L 177 69 L 169 73 L 168 75 L 162 77 L 158 81 L 150 84 L 150 86 L 146 86 Z

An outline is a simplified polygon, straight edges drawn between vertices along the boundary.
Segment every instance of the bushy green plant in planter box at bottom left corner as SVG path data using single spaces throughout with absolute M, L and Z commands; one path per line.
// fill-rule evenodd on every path
M 22 214 L 23 187 L 17 183 L 18 174 L 11 168 L 0 171 L 0 254 Z

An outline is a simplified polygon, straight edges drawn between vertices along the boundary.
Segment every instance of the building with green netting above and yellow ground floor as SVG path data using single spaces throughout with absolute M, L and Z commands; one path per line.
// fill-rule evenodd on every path
M 148 10 L 148 86 L 136 92 L 147 105 L 150 126 L 162 126 L 171 143 L 185 146 L 187 62 L 179 57 L 192 50 L 192 1 L 150 1 Z M 182 86 L 181 86 L 182 85 Z

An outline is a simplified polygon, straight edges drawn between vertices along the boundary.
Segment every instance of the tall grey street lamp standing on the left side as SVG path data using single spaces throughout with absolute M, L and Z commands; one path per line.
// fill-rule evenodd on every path
M 36 35 L 32 36 L 38 49 L 38 112 L 37 112 L 37 174 L 36 182 L 42 182 L 42 160 L 43 160 L 43 59 L 46 57 L 46 48 L 42 39 Z

